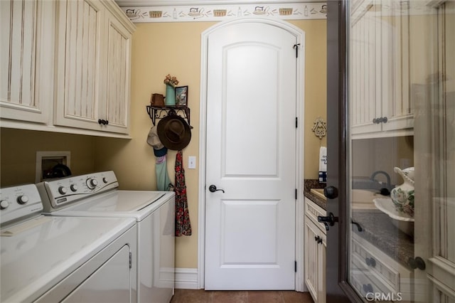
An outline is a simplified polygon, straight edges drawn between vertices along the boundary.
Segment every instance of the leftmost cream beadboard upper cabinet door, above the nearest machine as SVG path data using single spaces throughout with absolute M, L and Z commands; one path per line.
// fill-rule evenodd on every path
M 53 101 L 53 1 L 0 1 L 0 117 L 48 122 Z

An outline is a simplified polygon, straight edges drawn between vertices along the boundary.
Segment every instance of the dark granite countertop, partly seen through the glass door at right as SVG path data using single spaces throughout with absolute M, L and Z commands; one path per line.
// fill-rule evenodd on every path
M 304 196 L 326 209 L 326 201 L 310 191 L 311 188 L 324 188 L 326 184 L 319 183 L 316 179 L 305 179 L 304 187 Z M 410 269 L 407 260 L 414 257 L 414 241 L 409 235 L 396 228 L 389 216 L 380 211 L 360 210 L 353 211 L 352 218 L 362 227 L 362 231 L 358 231 L 358 228 L 352 225 L 354 233 Z

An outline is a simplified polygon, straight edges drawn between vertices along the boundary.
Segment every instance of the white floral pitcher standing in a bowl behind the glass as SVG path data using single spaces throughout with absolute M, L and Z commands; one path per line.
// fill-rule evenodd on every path
M 395 167 L 393 171 L 400 174 L 404 181 L 390 191 L 395 210 L 414 217 L 414 167 L 407 169 Z

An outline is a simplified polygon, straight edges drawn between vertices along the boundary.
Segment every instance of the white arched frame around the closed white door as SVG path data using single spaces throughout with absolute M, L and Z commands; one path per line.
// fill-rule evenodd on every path
M 295 290 L 304 292 L 304 67 L 305 67 L 305 33 L 300 28 L 277 18 L 242 17 L 232 21 L 223 21 L 211 26 L 201 33 L 200 47 L 200 124 L 199 124 L 199 181 L 198 181 L 198 289 L 205 287 L 205 142 L 207 137 L 207 72 L 208 72 L 208 37 L 211 33 L 225 26 L 237 23 L 265 23 L 289 31 L 300 43 L 296 59 L 296 116 L 299 124 L 296 131 L 296 274 Z M 299 85 L 300 84 L 300 85 Z

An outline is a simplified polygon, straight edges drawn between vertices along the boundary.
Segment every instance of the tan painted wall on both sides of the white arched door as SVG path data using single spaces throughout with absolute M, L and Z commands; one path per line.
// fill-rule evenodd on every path
M 317 178 L 320 140 L 311 127 L 326 117 L 326 21 L 293 21 L 306 33 L 305 178 Z M 155 157 L 146 144 L 151 120 L 146 114 L 151 93 L 164 94 L 164 76 L 175 75 L 188 85 L 191 108 L 191 143 L 183 150 L 188 204 L 193 235 L 176 240 L 176 267 L 196 268 L 198 255 L 198 169 L 188 169 L 188 156 L 199 155 L 200 35 L 213 22 L 139 23 L 133 36 L 132 137 L 130 141 L 100 138 L 96 141 L 97 170 L 113 169 L 124 189 L 155 189 Z M 322 144 L 325 143 L 325 139 Z M 176 152 L 168 153 L 173 181 Z M 199 159 L 197 158 L 197 166 Z

